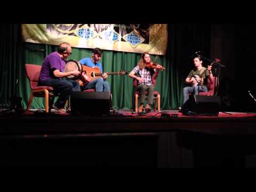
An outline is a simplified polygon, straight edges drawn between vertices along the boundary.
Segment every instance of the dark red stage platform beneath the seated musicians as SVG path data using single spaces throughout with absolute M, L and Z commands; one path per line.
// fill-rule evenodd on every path
M 208 134 L 256 134 L 256 113 L 220 112 L 218 116 L 185 116 L 178 110 L 138 115 L 115 110 L 112 115 L 91 117 L 68 113 L 46 114 L 42 110 L 0 115 L 3 134 L 111 133 L 193 131 Z M 22 127 L 22 128 L 21 128 Z

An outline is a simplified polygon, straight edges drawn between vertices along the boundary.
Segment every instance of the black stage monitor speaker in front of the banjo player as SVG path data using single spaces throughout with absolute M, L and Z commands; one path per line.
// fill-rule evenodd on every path
M 193 95 L 182 106 L 183 115 L 214 115 L 220 111 L 220 97 Z

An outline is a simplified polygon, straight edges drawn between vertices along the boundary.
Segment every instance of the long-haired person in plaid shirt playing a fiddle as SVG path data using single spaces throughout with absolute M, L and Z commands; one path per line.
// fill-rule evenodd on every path
M 138 81 L 137 91 L 140 92 L 140 107 L 138 109 L 139 112 L 142 111 L 143 104 L 145 103 L 146 91 L 148 91 L 146 111 L 149 112 L 151 110 L 150 105 L 153 104 L 154 97 L 153 81 L 156 80 L 159 74 L 159 69 L 162 68 L 161 65 L 156 65 L 154 68 L 146 67 L 146 65 L 150 65 L 151 63 L 150 54 L 144 52 L 141 54 L 138 65 L 134 67 L 129 74 L 129 77 L 137 79 Z M 137 74 L 137 76 L 135 74 Z

